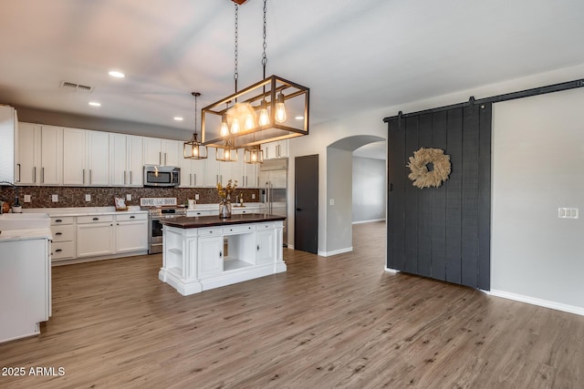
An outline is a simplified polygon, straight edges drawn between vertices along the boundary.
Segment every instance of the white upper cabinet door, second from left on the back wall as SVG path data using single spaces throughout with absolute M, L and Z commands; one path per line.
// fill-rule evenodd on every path
M 40 183 L 61 185 L 63 171 L 63 128 L 42 126 L 40 140 Z

